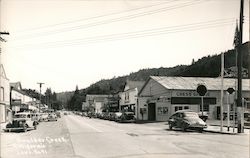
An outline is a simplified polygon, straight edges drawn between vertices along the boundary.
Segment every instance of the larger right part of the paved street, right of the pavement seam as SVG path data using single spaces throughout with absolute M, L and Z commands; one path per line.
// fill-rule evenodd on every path
M 249 155 L 249 135 L 169 131 L 165 123 L 119 124 L 67 116 L 75 155 L 93 158 L 235 158 Z

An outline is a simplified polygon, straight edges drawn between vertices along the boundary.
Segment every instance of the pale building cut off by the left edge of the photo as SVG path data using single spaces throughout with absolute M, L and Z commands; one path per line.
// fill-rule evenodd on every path
M 11 119 L 10 84 L 2 64 L 0 75 L 0 121 L 2 123 Z

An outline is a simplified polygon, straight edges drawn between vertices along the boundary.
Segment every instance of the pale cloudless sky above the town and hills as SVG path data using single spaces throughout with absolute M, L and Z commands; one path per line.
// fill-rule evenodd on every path
M 73 91 L 233 48 L 240 0 L 1 0 L 10 82 Z M 249 0 L 243 42 L 249 41 Z

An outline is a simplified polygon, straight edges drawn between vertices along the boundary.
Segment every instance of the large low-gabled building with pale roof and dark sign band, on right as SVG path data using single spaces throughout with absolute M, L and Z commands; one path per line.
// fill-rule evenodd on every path
M 196 92 L 197 86 L 204 84 L 207 93 L 204 96 L 203 110 L 209 119 L 220 117 L 221 78 L 203 77 L 159 77 L 151 76 L 142 87 L 138 96 L 139 119 L 166 121 L 177 110 L 191 109 L 201 111 L 201 97 Z M 227 89 L 234 88 L 236 79 L 224 79 L 224 111 L 227 109 Z M 250 98 L 250 80 L 242 80 L 242 97 Z M 232 96 L 231 96 L 232 97 Z M 231 110 L 233 110 L 233 105 Z M 248 108 L 249 105 L 248 105 Z

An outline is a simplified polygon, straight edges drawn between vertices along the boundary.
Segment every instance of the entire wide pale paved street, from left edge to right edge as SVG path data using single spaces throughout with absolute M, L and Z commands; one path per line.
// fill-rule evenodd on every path
M 1 133 L 1 157 L 248 158 L 249 134 L 170 131 L 164 122 L 134 124 L 65 115 L 37 130 Z

